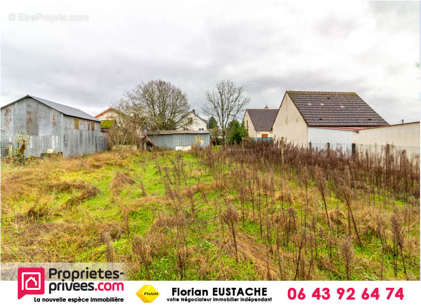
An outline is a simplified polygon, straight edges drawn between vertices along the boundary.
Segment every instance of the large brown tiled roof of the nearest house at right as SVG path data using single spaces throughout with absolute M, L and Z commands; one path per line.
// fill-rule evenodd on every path
M 388 125 L 356 93 L 287 91 L 310 126 Z

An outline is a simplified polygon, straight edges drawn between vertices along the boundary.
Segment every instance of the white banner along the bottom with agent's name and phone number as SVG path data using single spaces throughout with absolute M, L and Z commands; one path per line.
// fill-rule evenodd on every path
M 43 294 L 27 291 L 18 299 L 18 282 L 2 281 L 0 294 L 5 305 L 415 305 L 420 285 L 419 281 L 45 281 Z

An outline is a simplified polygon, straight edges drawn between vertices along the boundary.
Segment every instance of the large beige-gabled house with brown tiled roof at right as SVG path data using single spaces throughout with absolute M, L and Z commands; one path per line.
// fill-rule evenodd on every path
M 287 91 L 282 99 L 272 129 L 275 141 L 296 145 L 325 147 L 351 146 L 345 130 L 388 125 L 356 93 L 349 92 L 302 92 Z M 336 132 L 335 132 L 336 131 Z

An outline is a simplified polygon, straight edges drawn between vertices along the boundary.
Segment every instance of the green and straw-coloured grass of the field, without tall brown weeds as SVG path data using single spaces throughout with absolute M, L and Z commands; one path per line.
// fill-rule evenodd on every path
M 199 163 L 193 154 L 167 151 L 127 153 L 116 156 L 113 153 L 103 153 L 72 159 L 41 160 L 24 167 L 2 163 L 2 185 L 5 184 L 5 188 L 8 188 L 7 186 L 14 188 L 6 194 L 2 186 L 2 196 L 5 192 L 5 199 L 2 197 L 1 218 L 2 260 L 106 261 L 106 248 L 100 237 L 102 233 L 108 232 L 112 237 L 115 260 L 128 263 L 132 279 L 147 279 L 146 266 L 152 280 L 175 280 L 180 279 L 181 275 L 184 280 L 265 279 L 265 266 L 259 261 L 266 258 L 264 254 L 266 250 L 265 223 L 263 219 L 263 237 L 261 237 L 257 206 L 253 220 L 252 206 L 250 202 L 247 202 L 250 217 L 244 222 L 240 219 L 237 223 L 237 231 L 247 237 L 240 243 L 250 244 L 245 247 L 256 248 L 259 252 L 261 251 L 261 256 L 241 253 L 240 260 L 237 262 L 231 232 L 225 225 L 221 227 L 219 220 L 219 208 L 223 211 L 227 200 L 233 203 L 241 214 L 239 195 L 232 186 L 226 192 L 216 190 L 210 169 Z M 174 179 L 171 160 L 176 160 L 177 157 L 184 164 L 186 171 L 186 176 L 182 177 L 180 184 L 180 192 L 183 194 L 180 207 L 186 217 L 185 244 L 183 242 L 182 246 L 180 246 L 181 238 L 177 236 L 179 233 L 176 226 L 166 228 L 155 226 L 159 215 L 173 216 L 175 213 L 174 201 L 166 196 L 164 178 L 167 168 L 171 180 Z M 126 184 L 118 190 L 113 189 L 112 180 L 117 172 L 125 174 L 135 183 Z M 68 207 L 67 201 L 81 195 L 83 191 L 71 189 L 57 192 L 46 187 L 55 181 L 84 181 L 97 187 L 99 192 L 77 205 Z M 146 194 L 143 193 L 141 184 Z M 206 186 L 211 186 L 211 188 L 206 189 Z M 195 217 L 191 214 L 190 199 L 185 195 L 189 187 L 198 189 L 194 194 Z M 289 206 L 293 207 L 296 210 L 296 222 L 300 224 L 304 216 L 301 210 L 304 206 L 303 193 L 297 182 L 293 180 L 284 182 L 284 188 L 285 192 L 290 193 L 295 200 L 289 204 L 282 203 L 277 198 L 273 203 L 274 210 L 276 213 L 281 213 L 281 205 L 284 210 Z M 200 190 L 207 193 L 208 204 L 204 201 Z M 323 229 L 327 232 L 329 229 L 325 222 L 324 206 L 317 189 L 311 185 L 309 192 L 311 206 L 315 206 L 317 210 L 317 231 L 319 233 L 320 229 Z M 261 195 L 260 200 L 262 209 L 265 209 L 264 195 Z M 384 210 L 383 200 L 382 196 L 379 199 L 376 196 L 375 202 L 371 204 L 373 212 Z M 336 209 L 338 205 L 342 212 L 346 212 L 346 206 L 334 194 L 327 197 L 327 204 L 329 210 Z M 358 203 L 358 205 L 362 204 Z M 402 200 L 394 199 L 394 205 L 387 205 L 386 213 L 391 213 L 394 207 L 402 209 L 404 206 L 405 203 Z M 31 207 L 35 207 L 37 211 L 36 217 L 28 216 Z M 129 211 L 129 234 L 126 232 L 124 223 L 126 210 Z M 358 217 L 364 217 L 362 212 L 360 213 L 357 213 Z M 419 209 L 417 213 L 414 220 L 419 218 Z M 311 214 L 307 215 L 307 218 L 306 223 L 309 226 Z M 365 225 L 362 221 L 358 222 L 362 231 Z M 342 237 L 347 231 L 348 224 L 346 223 L 340 227 L 339 236 Z M 335 233 L 336 226 L 333 225 L 332 235 L 335 236 Z M 271 227 L 270 235 L 270 243 L 275 248 L 276 226 Z M 150 261 L 146 264 L 134 249 L 135 236 L 143 237 L 151 249 L 148 255 Z M 148 237 L 162 241 L 148 240 L 150 239 Z M 419 223 L 415 222 L 413 226 L 408 227 L 407 237 L 410 239 L 408 243 L 418 241 L 419 249 Z M 292 237 L 290 239 L 288 244 L 281 246 L 285 258 L 294 258 L 297 253 Z M 339 240 L 340 238 L 337 238 L 336 245 L 329 250 L 327 244 L 323 244 L 318 235 L 316 241 L 319 257 L 315 259 L 315 267 L 311 272 L 312 279 L 345 279 L 345 265 L 337 245 Z M 355 259 L 351 266 L 352 280 L 379 280 L 379 263 L 382 258 L 384 260 L 382 278 L 395 279 L 393 258 L 390 253 L 386 256 L 382 255 L 380 239 L 374 233 L 368 232 L 363 235 L 362 251 L 356 243 L 354 243 L 354 249 Z M 183 252 L 182 268 L 179 267 L 178 252 L 180 251 Z M 325 260 L 323 258 L 329 258 L 330 252 L 332 252 L 330 260 L 333 268 L 328 268 L 323 261 Z M 277 268 L 275 253 L 270 260 Z M 411 279 L 419 279 L 419 253 L 415 252 L 414 256 L 409 250 L 405 250 L 405 255 L 408 274 Z M 310 250 L 307 249 L 304 256 L 306 260 L 309 260 Z M 293 265 L 284 264 L 288 270 L 287 279 L 292 279 Z M 398 259 L 397 279 L 405 279 L 400 259 Z

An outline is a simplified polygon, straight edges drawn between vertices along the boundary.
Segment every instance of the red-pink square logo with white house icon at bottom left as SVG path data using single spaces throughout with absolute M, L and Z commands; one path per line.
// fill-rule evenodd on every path
M 26 294 L 44 294 L 44 268 L 18 268 L 18 299 Z

